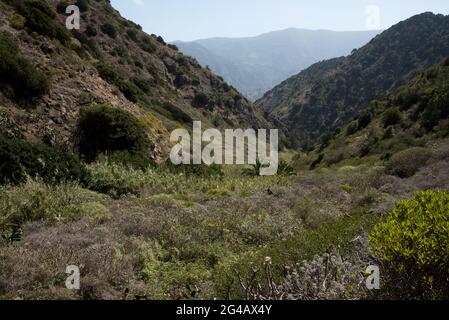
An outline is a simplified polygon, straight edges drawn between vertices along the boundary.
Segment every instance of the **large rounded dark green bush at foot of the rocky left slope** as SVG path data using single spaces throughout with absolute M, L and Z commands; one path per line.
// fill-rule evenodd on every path
M 131 113 L 108 105 L 83 109 L 78 122 L 78 149 L 87 162 L 101 153 L 145 153 L 149 145 L 144 126 Z

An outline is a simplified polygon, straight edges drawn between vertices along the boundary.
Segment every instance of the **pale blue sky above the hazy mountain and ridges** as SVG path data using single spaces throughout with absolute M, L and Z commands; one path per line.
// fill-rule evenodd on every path
M 112 0 L 122 16 L 166 41 L 248 37 L 287 28 L 387 29 L 448 0 Z

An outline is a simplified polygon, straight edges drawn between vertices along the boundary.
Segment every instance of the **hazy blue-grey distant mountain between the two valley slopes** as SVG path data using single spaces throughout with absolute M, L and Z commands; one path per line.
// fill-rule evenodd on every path
M 313 63 L 347 55 L 378 33 L 286 29 L 257 37 L 212 38 L 174 44 L 255 100 Z

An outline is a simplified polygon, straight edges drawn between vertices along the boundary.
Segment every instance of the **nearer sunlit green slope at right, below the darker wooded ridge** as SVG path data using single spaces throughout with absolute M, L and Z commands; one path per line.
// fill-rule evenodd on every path
M 303 161 L 316 167 L 381 160 L 393 170 L 390 173 L 408 177 L 413 168 L 419 169 L 432 158 L 431 149 L 441 151 L 439 141 L 449 136 L 448 118 L 446 58 L 418 73 L 386 99 L 372 101 L 349 124 L 324 137 Z M 442 156 L 447 158 L 448 154 Z M 392 167 L 392 159 L 399 168 Z

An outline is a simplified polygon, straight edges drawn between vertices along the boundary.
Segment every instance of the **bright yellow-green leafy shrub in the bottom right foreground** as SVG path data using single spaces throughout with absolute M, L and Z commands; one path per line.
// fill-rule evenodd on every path
M 401 201 L 371 233 L 373 253 L 384 261 L 393 298 L 449 297 L 449 194 L 417 192 Z

